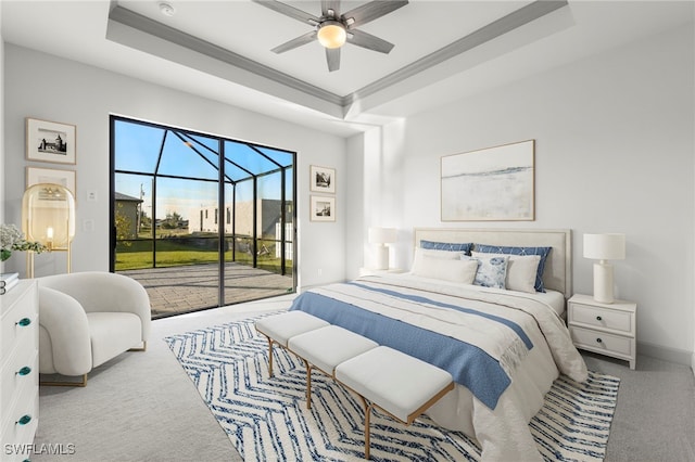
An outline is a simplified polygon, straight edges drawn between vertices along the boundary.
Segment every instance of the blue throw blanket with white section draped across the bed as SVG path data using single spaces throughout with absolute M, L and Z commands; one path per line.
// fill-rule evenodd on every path
M 500 396 L 511 383 L 498 359 L 471 343 L 383 316 L 375 310 L 361 308 L 361 303 L 364 305 L 367 298 L 374 303 L 371 300 L 374 296 L 379 298 L 378 303 L 393 300 L 394 305 L 412 304 L 414 309 L 427 310 L 433 307 L 462 311 L 469 318 L 479 318 L 488 323 L 498 323 L 508 328 L 518 336 L 520 339 L 518 344 L 527 349 L 526 352 L 533 347 L 528 335 L 518 324 L 498 316 L 374 283 L 337 284 L 336 286 L 342 286 L 345 292 L 336 296 L 327 295 L 330 294 L 330 290 L 305 292 L 294 299 L 290 310 L 305 311 L 331 324 L 371 338 L 380 345 L 397 349 L 448 371 L 456 383 L 470 389 L 490 409 L 496 407 Z

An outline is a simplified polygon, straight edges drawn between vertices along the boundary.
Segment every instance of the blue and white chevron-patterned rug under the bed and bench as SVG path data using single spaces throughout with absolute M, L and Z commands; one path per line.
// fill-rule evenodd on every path
M 268 316 L 268 315 L 266 315 Z M 321 373 L 312 375 L 306 409 L 303 363 L 267 342 L 257 318 L 164 338 L 245 461 L 362 461 L 364 410 Z M 592 372 L 585 384 L 560 376 L 529 424 L 547 461 L 603 460 L 619 378 Z M 476 440 L 437 426 L 427 415 L 409 426 L 374 412 L 375 461 L 478 461 Z

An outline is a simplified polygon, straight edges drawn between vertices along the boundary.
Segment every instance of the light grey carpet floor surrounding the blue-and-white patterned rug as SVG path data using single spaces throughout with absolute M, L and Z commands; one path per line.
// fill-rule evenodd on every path
M 74 454 L 34 462 L 241 461 L 165 336 L 289 307 L 282 296 L 152 323 L 146 352 L 126 352 L 89 374 L 86 388 L 40 388 L 36 448 L 75 445 Z M 695 460 L 695 376 L 687 365 L 639 355 L 624 361 L 583 354 L 589 369 L 620 377 L 606 462 Z M 1 459 L 1 458 L 0 458 Z

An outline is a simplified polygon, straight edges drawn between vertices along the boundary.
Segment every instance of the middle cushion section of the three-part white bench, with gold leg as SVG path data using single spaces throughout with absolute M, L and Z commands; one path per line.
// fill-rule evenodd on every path
M 312 408 L 312 369 L 334 377 L 338 364 L 377 346 L 376 342 L 338 325 L 327 325 L 290 338 L 288 349 L 302 358 L 306 367 L 306 408 Z

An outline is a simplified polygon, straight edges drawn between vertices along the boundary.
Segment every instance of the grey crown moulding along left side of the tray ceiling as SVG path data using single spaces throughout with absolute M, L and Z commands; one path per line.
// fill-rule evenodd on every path
M 252 74 L 265 77 L 269 80 L 281 84 L 294 90 L 299 90 L 303 93 L 306 93 L 314 98 L 318 98 L 328 103 L 332 103 L 339 106 L 344 105 L 343 97 L 331 93 L 330 91 L 326 91 L 323 88 L 318 88 L 316 86 L 307 84 L 304 80 L 294 78 L 290 75 L 276 70 L 253 60 L 249 60 L 248 57 L 244 57 L 232 51 L 202 40 L 198 37 L 193 37 L 190 34 L 186 34 L 181 30 L 169 27 L 166 24 L 150 20 L 149 17 L 142 16 L 141 14 L 138 14 L 121 5 L 116 5 L 111 10 L 111 12 L 109 13 L 109 20 L 140 30 L 142 33 L 150 34 L 162 40 L 169 41 L 172 43 L 178 44 L 179 47 L 187 48 L 189 50 L 195 51 L 232 66 L 239 67 Z

